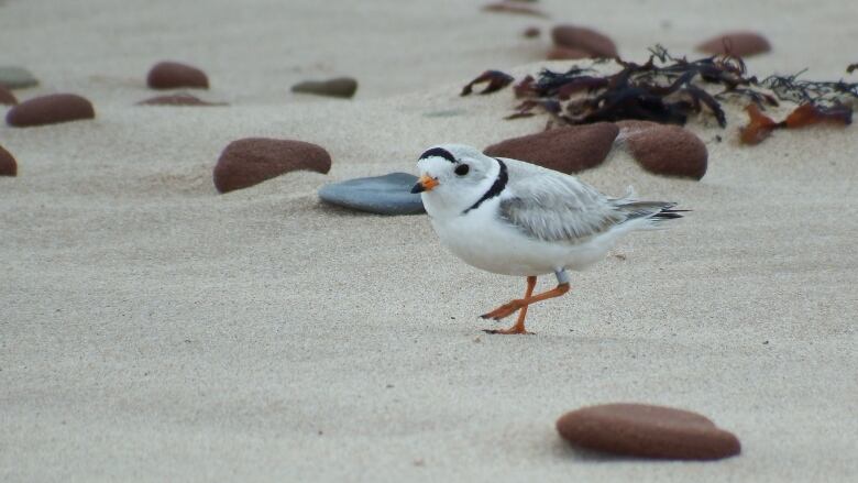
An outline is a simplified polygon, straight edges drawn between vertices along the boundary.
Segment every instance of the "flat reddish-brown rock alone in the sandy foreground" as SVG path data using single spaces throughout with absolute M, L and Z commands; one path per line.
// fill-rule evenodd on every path
M 741 452 L 739 440 L 708 418 L 646 404 L 604 404 L 566 413 L 557 430 L 571 443 L 631 457 L 717 460 Z

